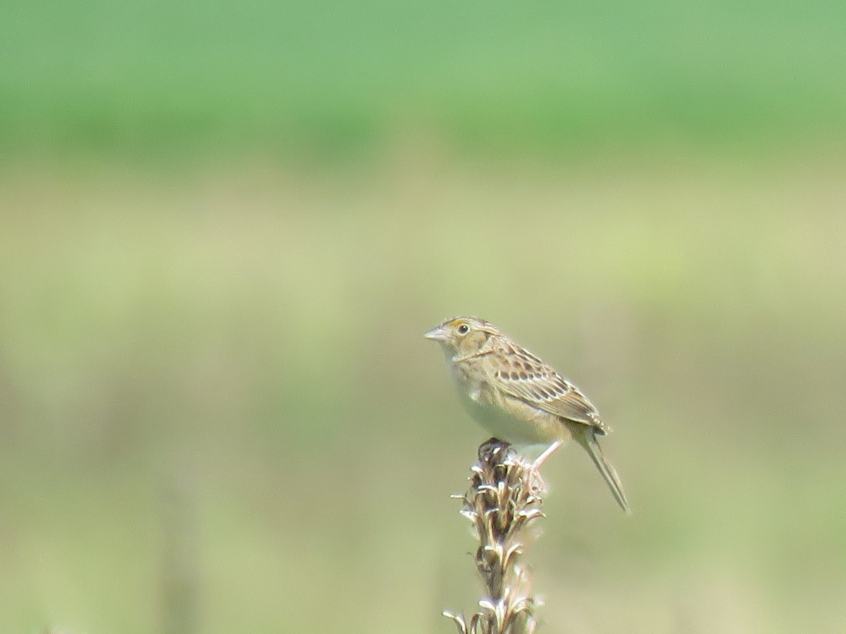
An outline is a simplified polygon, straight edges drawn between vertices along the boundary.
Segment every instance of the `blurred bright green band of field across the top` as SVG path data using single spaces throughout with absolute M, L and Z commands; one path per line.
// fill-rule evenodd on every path
M 465 0 L 17 3 L 0 150 L 161 161 L 743 149 L 846 128 L 846 5 Z

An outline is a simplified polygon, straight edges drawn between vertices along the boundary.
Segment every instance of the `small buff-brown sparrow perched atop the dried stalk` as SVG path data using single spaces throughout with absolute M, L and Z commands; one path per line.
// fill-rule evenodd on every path
M 623 484 L 596 441 L 610 429 L 578 387 L 478 317 L 450 318 L 424 336 L 441 344 L 461 403 L 483 428 L 513 445 L 546 445 L 536 467 L 572 438 L 630 512 Z

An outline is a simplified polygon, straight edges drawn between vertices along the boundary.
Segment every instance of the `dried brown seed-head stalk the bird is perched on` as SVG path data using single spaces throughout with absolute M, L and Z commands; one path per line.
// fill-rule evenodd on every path
M 475 565 L 486 595 L 470 619 L 463 612 L 443 615 L 453 620 L 459 634 L 531 634 L 537 602 L 520 560 L 529 537 L 526 528 L 543 516 L 541 477 L 530 462 L 496 439 L 479 447 L 471 471 L 470 489 L 454 497 L 463 501 L 461 515 L 470 520 L 479 540 Z

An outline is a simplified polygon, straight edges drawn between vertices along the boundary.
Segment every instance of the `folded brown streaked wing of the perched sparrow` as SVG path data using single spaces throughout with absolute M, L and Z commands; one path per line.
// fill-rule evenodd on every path
M 610 431 L 599 418 L 596 407 L 578 387 L 522 348 L 512 348 L 508 354 L 497 355 L 497 367 L 492 369 L 490 376 L 497 387 L 509 396 L 522 399 L 544 412 L 590 425 L 597 434 L 604 435 Z

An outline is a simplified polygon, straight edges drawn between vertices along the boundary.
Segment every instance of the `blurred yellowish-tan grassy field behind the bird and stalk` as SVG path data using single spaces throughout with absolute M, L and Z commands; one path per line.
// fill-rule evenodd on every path
M 634 516 L 547 467 L 549 631 L 842 629 L 842 170 L 13 175 L 0 629 L 157 631 L 176 574 L 196 631 L 449 631 L 463 312 L 616 428 Z

